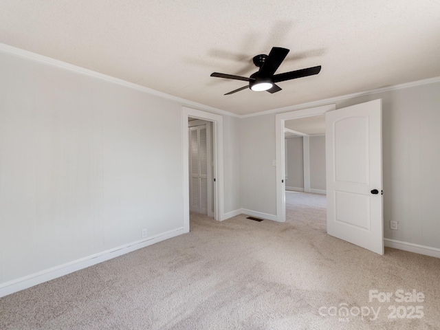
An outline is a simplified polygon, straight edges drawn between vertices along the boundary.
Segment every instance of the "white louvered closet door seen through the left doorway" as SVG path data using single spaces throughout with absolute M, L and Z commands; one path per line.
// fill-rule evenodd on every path
M 208 149 L 206 125 L 190 128 L 190 210 L 207 214 Z

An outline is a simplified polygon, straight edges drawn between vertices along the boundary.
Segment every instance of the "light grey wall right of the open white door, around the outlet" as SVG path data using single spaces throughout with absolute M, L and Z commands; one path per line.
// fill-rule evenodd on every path
M 384 236 L 440 248 L 440 83 L 342 100 L 382 98 Z M 390 229 L 399 221 L 399 230 Z

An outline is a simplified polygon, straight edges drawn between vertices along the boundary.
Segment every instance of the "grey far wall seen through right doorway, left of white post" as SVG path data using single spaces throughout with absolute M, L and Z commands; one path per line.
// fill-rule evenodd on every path
M 303 137 L 287 137 L 286 148 L 286 190 L 304 191 Z

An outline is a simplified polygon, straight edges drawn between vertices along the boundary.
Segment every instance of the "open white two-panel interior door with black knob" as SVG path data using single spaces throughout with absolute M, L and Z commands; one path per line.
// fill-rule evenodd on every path
M 384 254 L 382 100 L 326 113 L 327 233 Z

